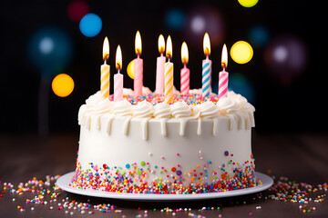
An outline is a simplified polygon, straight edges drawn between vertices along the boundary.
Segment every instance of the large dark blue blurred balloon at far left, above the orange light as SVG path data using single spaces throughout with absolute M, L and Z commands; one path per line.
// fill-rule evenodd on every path
M 55 26 L 47 26 L 31 35 L 27 53 L 39 72 L 51 77 L 67 67 L 72 57 L 73 44 L 67 32 Z

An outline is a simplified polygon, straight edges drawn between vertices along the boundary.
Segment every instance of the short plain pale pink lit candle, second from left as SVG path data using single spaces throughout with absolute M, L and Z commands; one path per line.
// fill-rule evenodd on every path
M 119 73 L 122 69 L 122 51 L 119 45 L 116 54 L 116 68 L 118 74 L 114 75 L 114 102 L 119 102 L 123 100 L 123 74 Z

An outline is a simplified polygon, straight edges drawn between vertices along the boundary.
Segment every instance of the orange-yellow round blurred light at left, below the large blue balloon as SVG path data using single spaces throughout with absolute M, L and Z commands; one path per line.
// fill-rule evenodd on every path
M 67 74 L 57 74 L 51 84 L 53 92 L 59 97 L 67 97 L 74 90 L 74 81 Z

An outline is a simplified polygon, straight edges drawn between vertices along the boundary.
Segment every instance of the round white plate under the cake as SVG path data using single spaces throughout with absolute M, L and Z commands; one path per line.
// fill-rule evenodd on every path
M 77 193 L 93 197 L 112 198 L 129 201 L 190 201 L 190 200 L 206 200 L 212 198 L 224 198 L 232 197 L 249 193 L 258 193 L 266 190 L 272 186 L 273 180 L 270 176 L 255 172 L 255 177 L 261 179 L 261 185 L 239 189 L 223 193 L 197 193 L 197 194 L 153 194 L 153 193 L 108 193 L 103 191 L 97 191 L 92 189 L 81 190 L 78 188 L 72 188 L 69 186 L 70 180 L 75 172 L 66 173 L 59 177 L 56 181 L 56 185 L 68 193 Z

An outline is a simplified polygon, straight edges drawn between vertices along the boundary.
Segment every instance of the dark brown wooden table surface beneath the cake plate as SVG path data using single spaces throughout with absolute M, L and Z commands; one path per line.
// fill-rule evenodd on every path
M 0 217 L 328 217 L 328 196 L 325 195 L 328 195 L 328 134 L 253 133 L 256 171 L 273 176 L 273 187 L 277 189 L 261 193 L 178 203 L 92 198 L 54 191 L 53 185 L 46 184 L 39 187 L 30 184 L 29 191 L 10 193 L 9 183 L 17 191 L 19 183 L 24 185 L 33 177 L 46 180 L 46 175 L 74 171 L 77 142 L 78 134 L 54 134 L 44 138 L 27 134 L 0 135 Z M 4 187 L 8 188 L 4 190 Z M 49 190 L 42 199 L 46 204 L 28 203 L 42 193 L 32 193 L 33 189 Z M 280 192 L 285 195 L 279 195 Z M 53 193 L 60 195 L 51 198 Z M 298 197 L 298 201 L 292 203 L 291 199 L 282 199 L 289 194 Z M 281 200 L 272 199 L 277 196 L 282 197 Z M 302 199 L 308 203 L 300 203 Z M 65 202 L 76 203 L 77 208 L 58 210 Z M 101 204 L 105 209 L 109 203 L 115 208 L 109 206 L 108 213 L 96 209 L 81 213 L 80 203 Z M 169 212 L 166 212 L 167 207 Z M 91 211 L 94 214 L 88 214 Z

